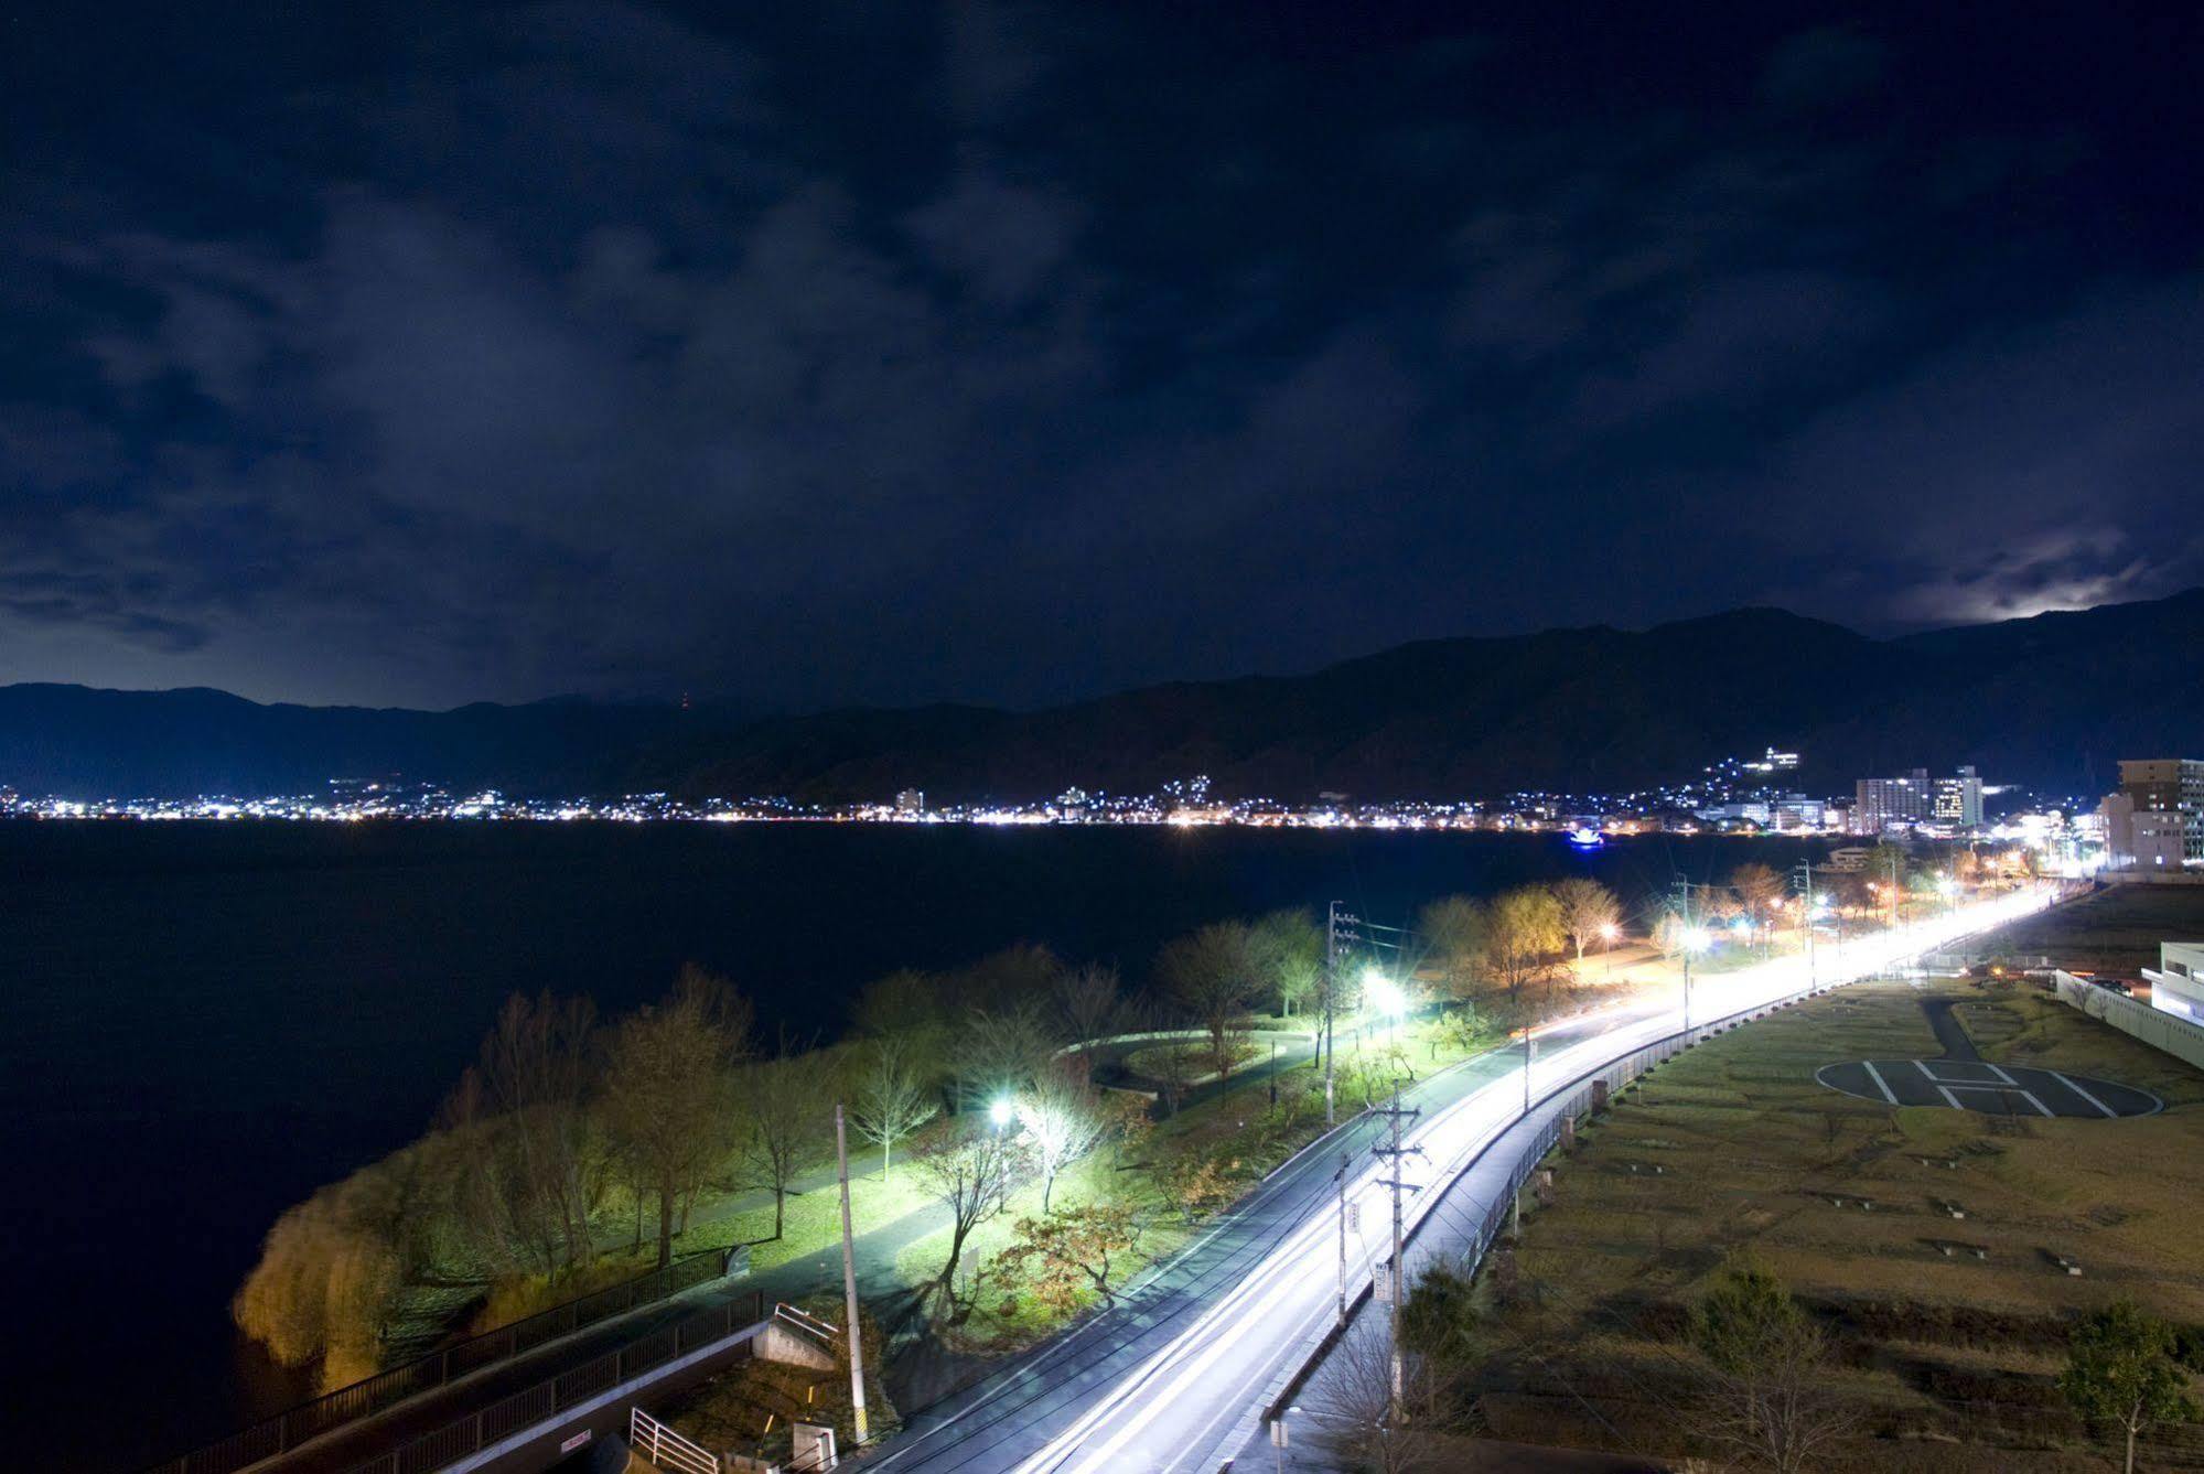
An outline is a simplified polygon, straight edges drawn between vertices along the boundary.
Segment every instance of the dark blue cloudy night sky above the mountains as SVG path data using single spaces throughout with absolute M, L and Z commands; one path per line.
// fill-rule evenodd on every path
M 2171 593 L 2200 57 L 2173 4 L 9 7 L 0 681 L 1040 703 Z

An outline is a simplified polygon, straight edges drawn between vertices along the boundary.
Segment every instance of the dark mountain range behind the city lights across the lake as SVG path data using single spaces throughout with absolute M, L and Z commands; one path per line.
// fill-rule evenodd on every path
M 1616 791 L 1763 747 L 1801 787 L 1977 765 L 2089 793 L 2122 756 L 2204 749 L 2204 588 L 1869 639 L 1746 608 L 1644 632 L 1435 639 L 1305 676 L 1181 681 L 1038 712 L 970 705 L 736 720 L 547 701 L 454 712 L 258 705 L 209 690 L 0 687 L 22 793 L 304 793 L 406 776 L 511 793 L 1023 800 L 1208 773 L 1221 795 Z

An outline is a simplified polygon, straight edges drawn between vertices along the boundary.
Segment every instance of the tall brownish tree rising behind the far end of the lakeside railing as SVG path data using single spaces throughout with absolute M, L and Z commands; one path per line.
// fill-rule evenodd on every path
M 613 1029 L 597 1115 L 630 1179 L 659 1199 L 661 1267 L 674 1251 L 674 1199 L 694 1201 L 732 1146 L 727 1071 L 749 1029 L 749 1000 L 701 967 Z M 681 1218 L 688 1227 L 685 1210 Z

